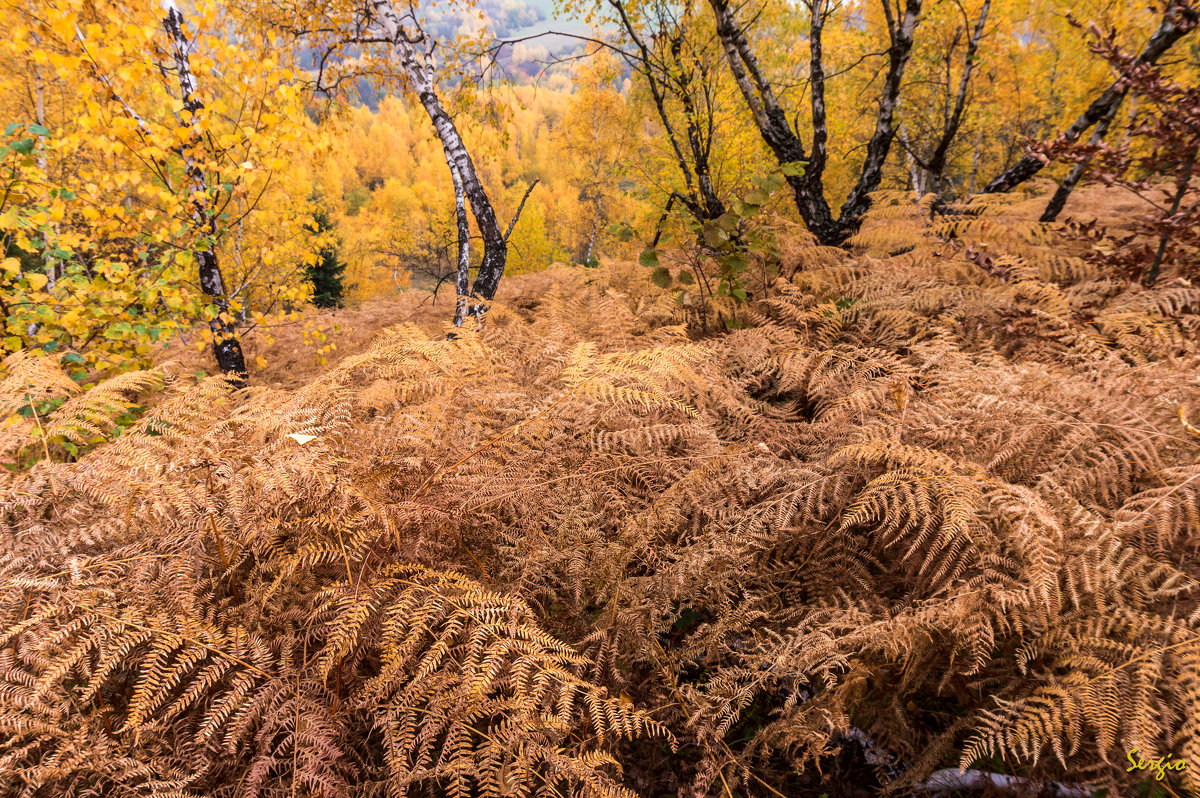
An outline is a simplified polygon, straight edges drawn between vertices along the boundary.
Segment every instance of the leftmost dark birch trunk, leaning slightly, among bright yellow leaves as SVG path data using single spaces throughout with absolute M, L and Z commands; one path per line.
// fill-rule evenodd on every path
M 162 20 L 163 29 L 170 37 L 172 53 L 175 60 L 175 72 L 179 78 L 179 95 L 184 103 L 184 114 L 192 130 L 191 140 L 179 148 L 184 158 L 184 170 L 191 188 L 191 215 L 193 232 L 198 233 L 205 245 L 196 253 L 200 290 L 208 295 L 216 308 L 216 318 L 209 322 L 212 332 L 212 354 L 217 366 L 226 374 L 233 374 L 238 382 L 246 379 L 246 358 L 238 340 L 235 320 L 229 308 L 229 292 L 216 253 L 217 220 L 211 208 L 208 175 L 197 161 L 196 152 L 203 146 L 199 116 L 204 103 L 196 96 L 196 78 L 192 74 L 191 44 L 184 32 L 184 14 L 174 0 L 164 0 L 167 16 Z

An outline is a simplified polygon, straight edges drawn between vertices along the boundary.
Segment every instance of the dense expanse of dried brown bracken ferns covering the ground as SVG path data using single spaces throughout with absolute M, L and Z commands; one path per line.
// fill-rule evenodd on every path
M 5 414 L 70 398 L 0 440 L 38 461 L 0 485 L 0 794 L 905 794 L 961 766 L 1124 796 L 1133 748 L 1200 767 L 1200 293 L 1063 252 L 880 197 L 852 254 L 790 238 L 791 281 L 703 341 L 617 263 L 295 389 L 74 395 L 10 359 Z

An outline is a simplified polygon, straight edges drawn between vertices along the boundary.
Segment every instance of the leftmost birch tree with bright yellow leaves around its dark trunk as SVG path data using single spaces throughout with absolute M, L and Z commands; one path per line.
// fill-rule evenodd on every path
M 28 126 L 20 208 L 0 209 L 0 239 L 24 253 L 0 277 L 5 349 L 71 349 L 106 372 L 146 365 L 180 335 L 244 378 L 239 330 L 307 299 L 319 244 L 299 154 L 317 140 L 296 72 L 230 40 L 238 10 L 188 7 L 12 6 L 0 89 L 28 95 L 41 121 Z

